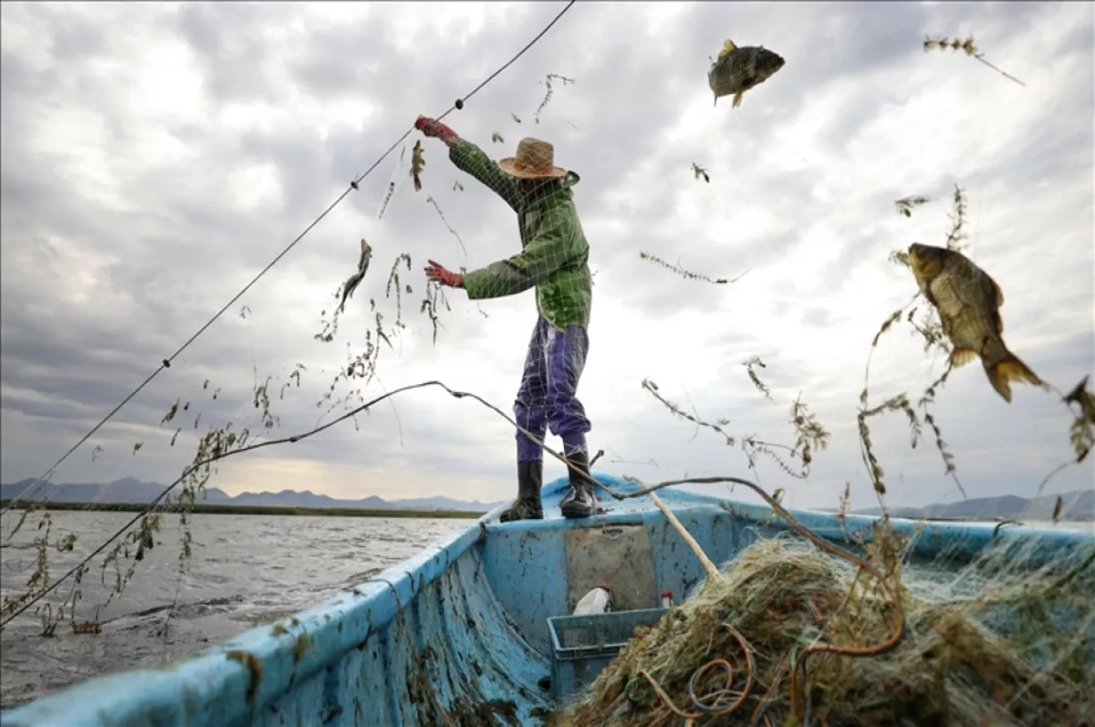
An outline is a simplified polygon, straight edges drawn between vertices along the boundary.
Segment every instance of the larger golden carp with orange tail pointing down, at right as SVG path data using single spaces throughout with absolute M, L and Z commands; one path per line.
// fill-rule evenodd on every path
M 1006 402 L 1012 401 L 1012 381 L 1049 388 L 1004 345 L 1000 318 L 1004 293 L 988 273 L 956 250 L 917 242 L 909 246 L 909 263 L 920 291 L 938 311 L 943 332 L 954 344 L 952 366 L 980 357 L 989 383 Z

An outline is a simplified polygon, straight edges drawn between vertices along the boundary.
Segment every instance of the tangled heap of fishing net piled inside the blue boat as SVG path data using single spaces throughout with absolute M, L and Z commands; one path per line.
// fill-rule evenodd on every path
M 1008 577 L 996 557 L 933 576 L 884 542 L 865 561 L 885 585 L 800 539 L 758 541 L 636 631 L 558 722 L 1095 725 L 1091 556 L 1052 574 Z

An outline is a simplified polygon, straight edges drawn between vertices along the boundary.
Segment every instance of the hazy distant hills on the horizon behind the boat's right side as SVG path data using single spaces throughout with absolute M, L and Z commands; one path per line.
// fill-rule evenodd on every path
M 1095 488 L 1076 489 L 1061 493 L 1061 519 L 1073 522 L 1095 520 Z M 1002 495 L 1000 497 L 978 497 L 943 503 L 927 507 L 891 508 L 895 518 L 941 518 L 954 520 L 993 520 L 995 518 L 1012 518 L 1015 520 L 1052 520 L 1057 507 L 1057 495 L 1040 497 L 1017 497 Z M 881 508 L 854 510 L 857 515 L 879 515 Z

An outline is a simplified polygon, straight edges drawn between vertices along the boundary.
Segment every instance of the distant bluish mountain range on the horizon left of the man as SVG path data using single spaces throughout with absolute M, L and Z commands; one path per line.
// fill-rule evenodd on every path
M 0 500 L 12 499 L 34 484 L 33 478 L 0 485 Z M 32 496 L 35 500 L 54 503 L 151 503 L 159 497 L 165 485 L 140 482 L 134 477 L 123 477 L 107 484 L 42 484 Z M 234 497 L 219 487 L 205 489 L 199 503 L 209 505 L 251 505 L 265 507 L 309 507 L 309 508 L 354 508 L 362 510 L 456 510 L 461 512 L 486 512 L 500 503 L 465 501 L 451 497 L 420 497 L 414 499 L 385 500 L 369 496 L 361 499 L 335 499 L 316 495 L 310 491 L 298 493 L 283 489 L 279 493 L 241 493 Z

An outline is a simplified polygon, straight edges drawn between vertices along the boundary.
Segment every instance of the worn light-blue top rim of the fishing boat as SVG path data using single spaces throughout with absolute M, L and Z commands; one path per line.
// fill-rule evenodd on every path
M 614 475 L 597 473 L 598 481 L 616 492 L 638 487 Z M 566 477 L 548 483 L 543 488 L 545 500 L 557 498 L 566 487 Z M 731 498 L 675 491 L 664 494 L 672 509 L 682 517 L 718 513 L 742 521 L 780 530 L 793 530 L 781 516 L 766 505 L 742 503 Z M 639 498 L 636 499 L 636 505 Z M 649 500 L 644 500 L 648 503 Z M 113 723 L 125 724 L 131 716 L 147 713 L 157 705 L 158 713 L 173 711 L 182 720 L 194 717 L 194 705 L 238 705 L 230 714 L 218 717 L 231 724 L 243 720 L 252 709 L 264 707 L 291 690 L 295 683 L 314 677 L 322 669 L 336 663 L 354 648 L 364 648 L 368 639 L 385 627 L 427 586 L 440 578 L 446 570 L 474 544 L 485 541 L 492 532 L 504 531 L 558 531 L 570 528 L 601 528 L 604 526 L 647 524 L 650 507 L 609 510 L 607 513 L 581 520 L 551 518 L 497 522 L 497 517 L 508 505 L 499 505 L 466 528 L 439 538 L 417 554 L 394 564 L 381 573 L 348 588 L 345 592 L 286 616 L 274 624 L 250 628 L 230 639 L 189 654 L 175 661 L 151 669 L 131 669 L 79 682 L 53 694 L 0 712 L 4 725 L 43 724 L 64 719 L 66 724 L 105 724 L 94 715 L 108 717 Z M 848 515 L 843 518 L 832 512 L 787 508 L 800 524 L 830 541 L 846 540 L 849 534 L 861 533 L 869 540 L 874 524 L 883 520 L 876 515 Z M 1002 529 L 998 523 L 932 522 L 891 518 L 894 530 L 915 538 L 913 551 L 919 554 L 942 553 L 956 550 L 975 554 L 998 543 L 1045 543 L 1053 551 L 1054 559 L 1061 557 L 1062 545 L 1095 545 L 1095 533 L 1080 530 L 1057 530 L 1028 526 Z M 1035 549 L 1037 551 L 1037 549 Z M 1040 558 L 1026 553 L 1033 562 Z M 345 628 L 346 624 L 364 622 L 365 628 Z M 281 633 L 277 633 L 278 630 Z M 319 648 L 298 649 L 298 639 L 307 633 Z M 287 636 L 291 638 L 287 638 Z M 417 650 L 417 649 L 415 649 Z M 252 684 L 252 671 L 242 661 L 229 657 L 232 653 L 253 655 L 261 665 L 262 677 Z M 322 658 L 318 655 L 322 655 Z M 134 690 L 134 680 L 140 679 L 141 689 Z M 123 696 L 118 696 L 118 695 Z M 73 717 L 76 719 L 73 720 Z

